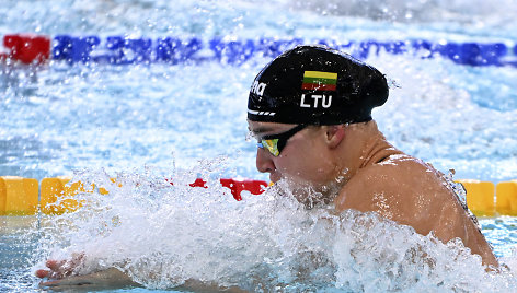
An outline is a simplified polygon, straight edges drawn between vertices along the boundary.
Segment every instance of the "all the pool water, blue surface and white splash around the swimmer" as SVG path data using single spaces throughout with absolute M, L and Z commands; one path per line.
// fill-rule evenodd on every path
M 424 38 L 509 46 L 517 42 L 515 11 L 517 3 L 510 0 L 496 7 L 481 0 L 276 0 L 267 4 L 8 0 L 0 8 L 0 32 L 203 40 Z M 117 177 L 127 189 L 112 187 L 108 198 L 93 195 L 91 209 L 61 218 L 2 218 L 0 291 L 39 291 L 30 277 L 33 266 L 49 255 L 65 257 L 78 250 L 92 256 L 90 269 L 126 263 L 137 280 L 160 290 L 185 278 L 248 288 L 260 283 L 265 291 L 277 286 L 292 292 L 336 286 L 345 292 L 505 292 L 515 285 L 512 276 L 480 271 L 476 260 L 463 257 L 460 248 L 452 249 L 459 257 L 451 269 L 455 257 L 449 250 L 367 216 L 360 221 L 374 221 L 376 233 L 354 226 L 360 221 L 345 214 L 333 220 L 335 233 L 329 235 L 322 228 L 324 212 L 310 214 L 268 195 L 233 202 L 216 185 L 203 190 L 164 188 L 163 177 L 180 183 L 199 175 L 267 179 L 255 171 L 255 145 L 245 141 L 245 107 L 251 81 L 268 60 L 268 56 L 254 56 L 239 65 L 222 60 L 2 66 L 0 175 L 41 179 L 76 174 L 81 180 L 105 185 L 108 177 Z M 517 68 L 467 67 L 449 59 L 383 52 L 366 61 L 392 83 L 388 103 L 375 110 L 374 118 L 394 145 L 440 171 L 456 169 L 457 178 L 494 183 L 517 178 Z M 141 187 L 131 185 L 135 181 Z M 285 206 L 297 212 L 284 214 Z M 122 224 L 114 225 L 114 219 Z M 496 255 L 515 267 L 515 219 L 481 223 Z M 279 227 L 285 232 L 278 233 Z M 309 236 L 297 233 L 300 228 Z M 351 241 L 354 235 L 365 241 Z M 384 235 L 386 243 L 400 246 L 380 245 L 379 250 L 361 253 L 370 249 L 368 241 L 375 242 L 369 235 Z M 310 236 L 329 241 L 314 242 Z M 418 247 L 416 243 L 424 243 L 435 269 L 406 261 L 404 256 Z M 336 249 L 336 244 L 345 248 Z M 311 251 L 319 257 L 311 257 Z M 354 262 L 347 258 L 352 254 L 364 261 Z M 322 269 L 313 274 L 294 274 L 314 271 L 315 265 Z M 415 276 L 422 268 L 427 274 Z M 158 277 L 146 277 L 151 272 Z M 257 276 L 266 280 L 250 283 Z

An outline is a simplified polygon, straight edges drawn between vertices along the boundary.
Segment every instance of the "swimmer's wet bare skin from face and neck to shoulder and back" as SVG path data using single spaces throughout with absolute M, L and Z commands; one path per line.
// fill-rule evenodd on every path
M 257 138 L 292 127 L 249 121 Z M 443 174 L 393 148 L 375 121 L 303 129 L 289 139 L 279 156 L 258 149 L 256 167 L 269 173 L 272 181 L 288 178 L 313 186 L 326 194 L 337 212 L 374 211 L 422 235 L 433 232 L 444 243 L 458 237 L 482 257 L 484 265 L 498 267 L 490 245 Z M 322 188 L 325 185 L 329 188 Z M 305 200 L 299 192 L 300 201 Z

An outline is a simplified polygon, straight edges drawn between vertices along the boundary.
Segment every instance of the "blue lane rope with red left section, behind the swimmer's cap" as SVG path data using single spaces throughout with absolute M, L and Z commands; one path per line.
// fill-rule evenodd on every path
M 227 40 L 225 37 L 204 39 L 199 37 L 134 38 L 124 36 L 72 36 L 47 37 L 30 34 L 12 34 L 3 37 L 8 52 L 2 59 L 23 63 L 41 63 L 48 59 L 73 63 L 199 63 L 217 61 L 240 65 L 252 57 L 278 56 L 299 44 L 321 44 L 344 50 L 358 59 L 382 52 L 391 55 L 411 54 L 417 58 L 441 57 L 466 66 L 517 67 L 517 44 L 457 43 L 409 40 L 309 40 L 303 38 L 277 39 L 253 38 Z

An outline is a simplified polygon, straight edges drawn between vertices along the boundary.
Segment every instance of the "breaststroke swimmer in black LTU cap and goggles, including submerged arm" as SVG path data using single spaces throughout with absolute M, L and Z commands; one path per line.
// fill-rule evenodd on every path
M 379 131 L 371 110 L 383 105 L 388 94 L 382 73 L 346 54 L 320 46 L 284 52 L 258 73 L 249 95 L 257 169 L 269 173 L 273 183 L 289 183 L 302 203 L 318 200 L 333 204 L 336 212 L 377 212 L 444 243 L 459 238 L 483 265 L 497 268 L 475 218 L 443 174 L 397 150 Z M 311 198 L 314 192 L 307 187 L 321 196 Z M 131 284 L 116 270 L 68 277 L 81 258 L 49 260 L 48 269 L 36 276 L 55 279 L 42 283 L 50 288 Z M 204 285 L 193 281 L 186 286 Z

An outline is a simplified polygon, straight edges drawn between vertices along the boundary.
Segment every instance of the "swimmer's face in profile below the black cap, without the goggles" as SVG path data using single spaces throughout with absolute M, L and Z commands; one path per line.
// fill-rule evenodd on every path
M 248 121 L 250 131 L 257 141 L 264 136 L 284 133 L 297 125 Z M 282 178 L 299 186 L 310 185 L 322 189 L 335 178 L 335 165 L 325 143 L 322 127 L 306 127 L 290 137 L 282 152 L 273 154 L 267 148 L 257 148 L 256 168 L 269 173 L 273 183 Z

